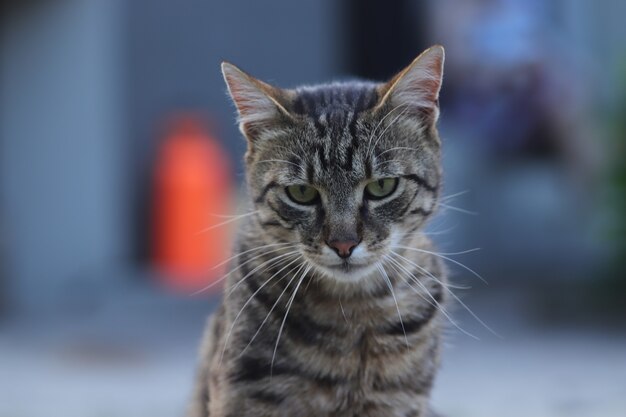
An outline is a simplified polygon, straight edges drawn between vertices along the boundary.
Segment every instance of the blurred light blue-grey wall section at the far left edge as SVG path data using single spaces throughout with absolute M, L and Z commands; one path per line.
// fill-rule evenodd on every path
M 7 291 L 30 309 L 128 252 L 121 2 L 12 4 L 0 38 Z

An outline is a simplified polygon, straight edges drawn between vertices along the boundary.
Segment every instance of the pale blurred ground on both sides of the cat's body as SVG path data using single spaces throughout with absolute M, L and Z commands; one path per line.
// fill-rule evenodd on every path
M 190 299 L 129 297 L 78 316 L 0 322 L 0 417 L 182 416 L 207 311 Z M 481 340 L 448 337 L 440 412 L 626 416 L 626 337 L 501 319 L 502 338 L 464 317 Z

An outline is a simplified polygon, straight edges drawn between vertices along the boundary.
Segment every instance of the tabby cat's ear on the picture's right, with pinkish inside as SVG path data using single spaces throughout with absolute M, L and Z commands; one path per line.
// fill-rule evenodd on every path
M 439 90 L 444 59 L 445 52 L 440 45 L 422 52 L 408 67 L 381 87 L 382 98 L 377 108 L 389 104 L 399 111 L 435 122 L 439 117 Z

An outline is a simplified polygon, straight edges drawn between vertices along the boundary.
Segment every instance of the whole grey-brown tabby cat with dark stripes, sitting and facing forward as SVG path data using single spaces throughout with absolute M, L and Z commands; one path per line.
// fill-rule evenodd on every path
M 280 89 L 222 64 L 252 211 L 191 417 L 426 417 L 446 273 L 420 232 L 442 182 L 444 49 L 386 83 Z

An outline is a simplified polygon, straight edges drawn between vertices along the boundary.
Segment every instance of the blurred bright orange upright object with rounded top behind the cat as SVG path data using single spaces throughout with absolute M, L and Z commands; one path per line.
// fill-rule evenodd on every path
M 155 175 L 153 260 L 165 283 L 194 291 L 219 279 L 230 251 L 232 180 L 219 143 L 194 117 L 179 117 L 160 149 Z

